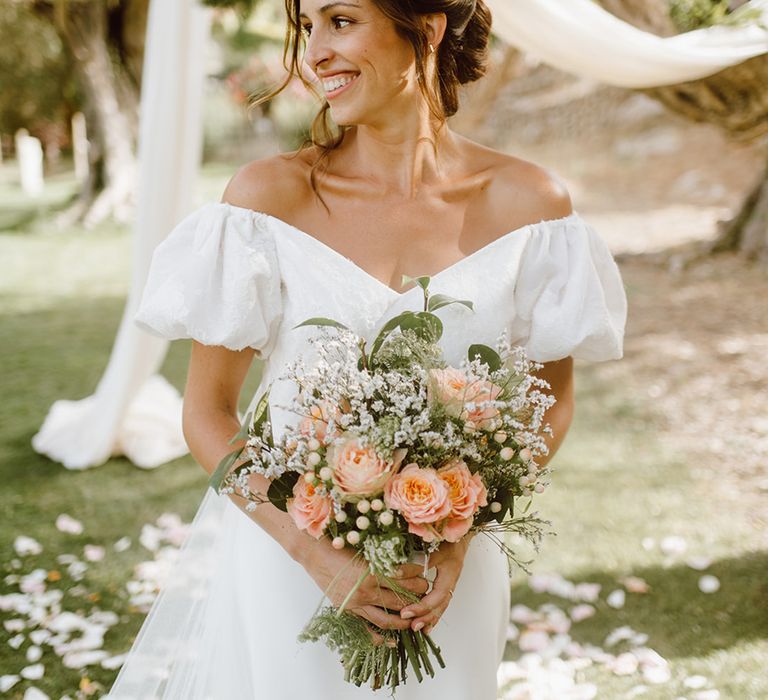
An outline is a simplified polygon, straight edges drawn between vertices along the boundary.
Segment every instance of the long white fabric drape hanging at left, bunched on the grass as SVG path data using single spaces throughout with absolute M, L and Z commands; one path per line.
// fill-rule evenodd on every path
M 178 392 L 154 373 L 168 342 L 133 323 L 155 246 L 192 206 L 202 147 L 204 51 L 210 12 L 191 0 L 150 5 L 139 134 L 138 207 L 131 289 L 96 391 L 56 401 L 32 439 L 69 469 L 124 454 L 155 467 L 186 454 Z

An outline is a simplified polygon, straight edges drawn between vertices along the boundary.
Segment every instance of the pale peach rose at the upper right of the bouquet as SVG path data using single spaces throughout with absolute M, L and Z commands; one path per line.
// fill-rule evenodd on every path
M 499 415 L 493 406 L 475 407 L 469 411 L 465 404 L 469 401 L 496 400 L 501 393 L 501 387 L 493 382 L 471 379 L 460 369 L 446 367 L 431 369 L 432 381 L 427 387 L 427 397 L 430 401 L 438 401 L 445 406 L 450 416 L 472 421 L 477 428 L 492 430 L 494 421 Z

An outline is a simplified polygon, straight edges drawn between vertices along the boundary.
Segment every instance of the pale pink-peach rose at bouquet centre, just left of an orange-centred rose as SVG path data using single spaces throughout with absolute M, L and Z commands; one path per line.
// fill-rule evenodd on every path
M 333 470 L 336 489 L 348 498 L 357 500 L 381 492 L 384 485 L 398 470 L 406 450 L 395 450 L 393 459 L 383 459 L 371 446 L 363 446 L 356 437 L 328 448 L 326 460 Z

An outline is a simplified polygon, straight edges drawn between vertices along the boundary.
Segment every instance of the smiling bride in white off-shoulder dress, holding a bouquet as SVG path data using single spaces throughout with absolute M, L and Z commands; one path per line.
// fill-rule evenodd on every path
M 312 143 L 246 165 L 222 202 L 184 219 L 155 252 L 136 319 L 193 340 L 184 394 L 192 455 L 212 472 L 231 451 L 254 357 L 265 361 L 254 398 L 273 385 L 273 430 L 295 420 L 281 408 L 295 390 L 281 369 L 310 352 L 310 331 L 294 327 L 326 316 L 370 337 L 381 319 L 418 304 L 416 288 L 399 284 L 407 274 L 475 302 L 475 313 L 446 324 L 447 361 L 507 330 L 544 363 L 558 399 L 547 416 L 551 457 L 571 421 L 573 358 L 621 356 L 626 301 L 605 244 L 554 174 L 446 123 L 459 86 L 486 69 L 488 8 L 286 0 L 286 11 L 291 72 L 303 63 L 325 97 Z M 270 504 L 248 512 L 209 492 L 109 697 L 371 697 L 343 681 L 324 645 L 296 640 L 338 572 L 334 604 L 357 580 L 363 565 L 347 566 L 350 558 Z M 377 641 L 373 626 L 411 627 L 442 647 L 446 668 L 422 684 L 409 679 L 401 700 L 491 700 L 510 604 L 506 557 L 474 537 L 444 543 L 430 564 L 429 580 L 417 565 L 401 571 L 403 586 L 426 594 L 419 603 L 404 605 L 369 576 L 349 609 Z

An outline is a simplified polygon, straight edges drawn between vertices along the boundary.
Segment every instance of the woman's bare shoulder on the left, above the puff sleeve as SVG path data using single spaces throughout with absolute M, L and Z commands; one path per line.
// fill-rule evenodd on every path
M 222 202 L 284 218 L 308 187 L 306 158 L 293 151 L 243 165 L 227 183 Z

